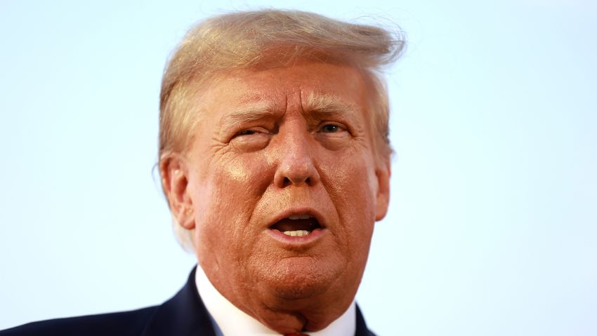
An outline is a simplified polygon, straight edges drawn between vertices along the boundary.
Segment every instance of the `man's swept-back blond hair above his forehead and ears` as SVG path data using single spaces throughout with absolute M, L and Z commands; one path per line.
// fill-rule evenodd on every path
M 281 67 L 303 60 L 350 65 L 362 71 L 379 156 L 388 156 L 388 94 L 382 67 L 405 42 L 398 29 L 359 25 L 303 11 L 261 10 L 217 15 L 190 29 L 169 60 L 159 102 L 159 158 L 183 153 L 197 117 L 190 96 L 217 74 L 249 67 Z M 189 231 L 174 223 L 183 246 Z

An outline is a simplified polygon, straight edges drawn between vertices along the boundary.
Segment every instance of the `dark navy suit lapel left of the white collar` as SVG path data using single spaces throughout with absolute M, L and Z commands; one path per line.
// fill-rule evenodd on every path
M 195 269 L 185 286 L 158 307 L 142 336 L 216 336 L 209 313 L 197 293 Z

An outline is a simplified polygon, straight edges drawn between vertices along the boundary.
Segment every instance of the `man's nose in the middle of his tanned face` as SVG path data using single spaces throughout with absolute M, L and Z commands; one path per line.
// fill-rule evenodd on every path
M 292 135 L 280 147 L 280 161 L 274 176 L 276 187 L 315 185 L 320 175 L 315 167 L 313 147 L 308 135 Z

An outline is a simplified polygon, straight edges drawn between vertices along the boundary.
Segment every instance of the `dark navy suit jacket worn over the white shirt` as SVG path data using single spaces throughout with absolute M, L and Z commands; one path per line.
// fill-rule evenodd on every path
M 215 336 L 209 313 L 197 293 L 195 269 L 187 283 L 161 306 L 119 313 L 58 318 L 0 331 L 0 336 Z M 226 335 L 228 336 L 228 335 Z M 339 335 L 341 336 L 341 335 Z M 357 307 L 355 336 L 374 336 Z

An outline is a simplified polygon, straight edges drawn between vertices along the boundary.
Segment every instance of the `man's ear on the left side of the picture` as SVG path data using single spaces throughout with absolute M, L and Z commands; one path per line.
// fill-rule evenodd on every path
M 159 161 L 162 188 L 172 217 L 185 229 L 195 229 L 192 199 L 188 190 L 188 169 L 182 156 L 163 156 Z

